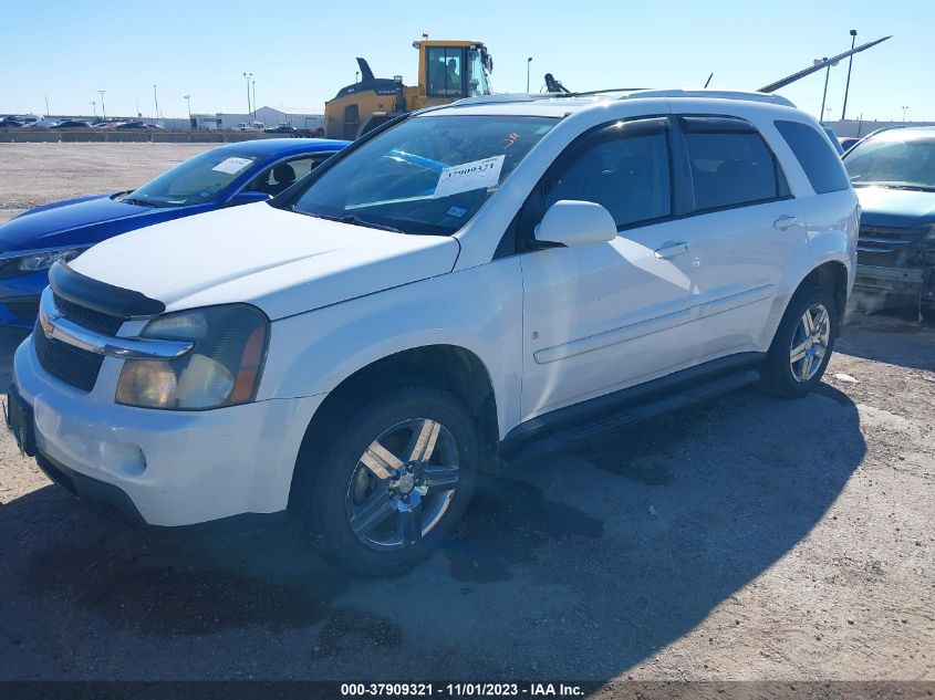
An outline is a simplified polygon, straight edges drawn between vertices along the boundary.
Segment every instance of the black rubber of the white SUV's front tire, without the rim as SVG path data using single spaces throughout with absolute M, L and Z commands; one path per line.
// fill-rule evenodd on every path
M 446 501 L 440 518 L 420 539 L 399 548 L 374 548 L 377 545 L 360 539 L 350 522 L 349 508 L 353 506 L 349 505 L 349 499 L 353 500 L 361 478 L 360 470 L 364 469 L 360 460 L 368 446 L 387 430 L 395 430 L 397 426 L 415 419 L 436 421 L 447 431 L 444 446 L 440 442 L 443 438 L 438 438 L 438 449 L 450 452 L 454 440 L 458 461 L 457 488 Z M 411 568 L 444 542 L 467 509 L 481 456 L 477 421 L 461 401 L 443 388 L 404 386 L 377 393 L 352 409 L 336 411 L 328 420 L 328 426 L 320 436 L 324 445 L 307 445 L 299 457 L 292 488 L 294 510 L 311 527 L 322 554 L 337 567 L 364 576 L 389 576 Z M 413 429 L 413 438 L 415 432 Z M 393 439 L 394 435 L 389 438 Z M 437 450 L 433 452 L 437 453 Z M 363 478 L 372 481 L 367 487 L 373 489 L 371 495 L 393 483 L 392 479 L 378 479 L 370 470 L 363 472 Z M 418 480 L 416 483 L 419 483 Z M 394 492 L 392 489 L 387 491 Z M 395 493 L 398 497 L 398 490 Z M 406 500 L 422 498 L 425 503 L 433 495 L 430 490 L 427 497 L 417 497 L 411 490 Z M 388 516 L 389 520 L 393 518 L 396 518 L 395 513 Z

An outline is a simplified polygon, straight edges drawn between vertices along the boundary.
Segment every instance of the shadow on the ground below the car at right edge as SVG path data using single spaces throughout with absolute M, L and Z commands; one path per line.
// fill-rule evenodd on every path
M 851 310 L 838 349 L 891 365 L 935 372 L 935 312 L 905 309 L 873 313 Z

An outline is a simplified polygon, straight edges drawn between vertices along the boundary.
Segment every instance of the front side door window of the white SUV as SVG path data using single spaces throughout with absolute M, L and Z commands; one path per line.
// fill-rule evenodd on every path
M 603 206 L 619 227 L 672 213 L 665 134 L 601 140 L 584 148 L 551 182 L 548 205 L 580 199 Z

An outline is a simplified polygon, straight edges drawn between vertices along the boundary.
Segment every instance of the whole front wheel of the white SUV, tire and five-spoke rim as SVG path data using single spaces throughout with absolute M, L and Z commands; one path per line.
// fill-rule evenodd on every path
M 328 422 L 324 449 L 309 445 L 300 455 L 297 510 L 341 568 L 406 571 L 467 509 L 481 453 L 477 421 L 443 388 L 417 386 L 389 389 Z

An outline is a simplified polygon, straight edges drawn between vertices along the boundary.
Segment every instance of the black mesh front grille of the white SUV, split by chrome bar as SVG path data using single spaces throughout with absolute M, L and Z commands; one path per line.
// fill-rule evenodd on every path
M 66 301 L 58 294 L 53 295 L 53 299 L 55 306 L 65 318 L 97 333 L 114 335 L 124 322 L 118 316 L 93 311 Z M 101 365 L 104 363 L 103 355 L 74 347 L 55 338 L 45 337 L 39 321 L 35 322 L 35 331 L 32 336 L 35 356 L 45 372 L 60 382 L 82 391 L 91 391 L 94 388 L 97 375 L 101 373 Z

